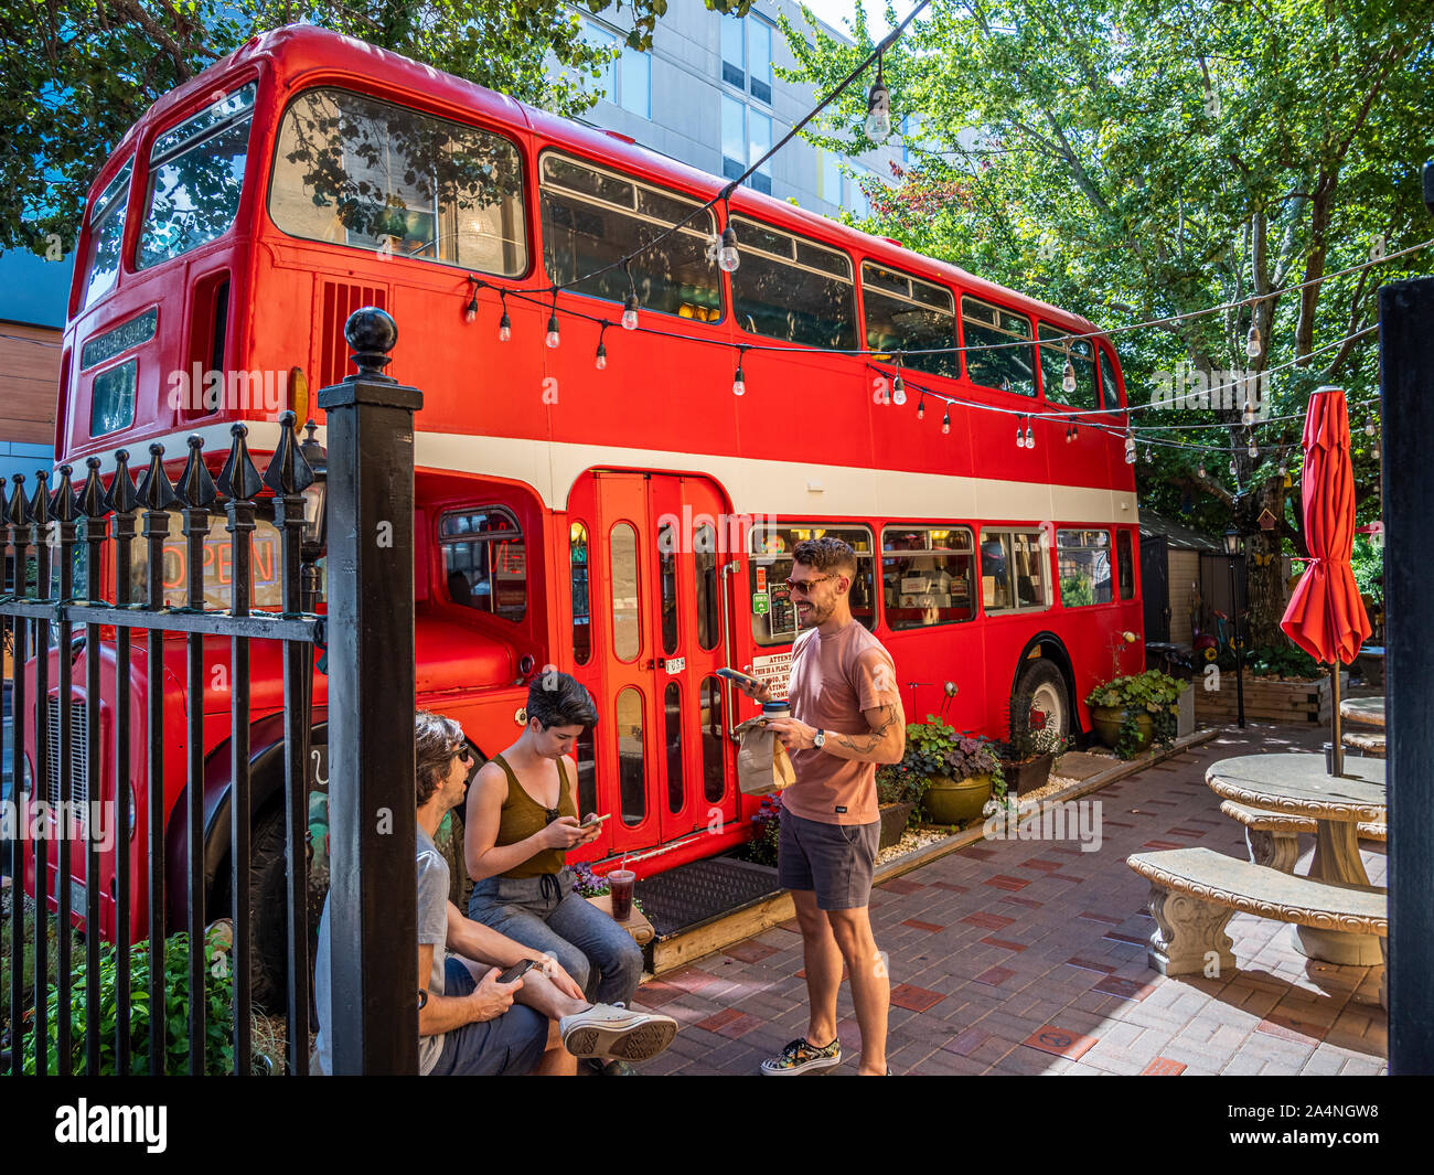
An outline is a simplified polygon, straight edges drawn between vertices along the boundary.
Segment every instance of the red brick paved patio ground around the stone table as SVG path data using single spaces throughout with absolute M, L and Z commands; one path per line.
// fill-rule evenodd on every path
M 991 841 L 879 887 L 878 945 L 892 974 L 895 1073 L 1382 1073 L 1380 968 L 1314 963 L 1289 927 L 1236 914 L 1239 968 L 1164 978 L 1146 966 L 1149 887 L 1124 864 L 1141 848 L 1205 845 L 1245 857 L 1242 829 L 1205 785 L 1216 759 L 1315 750 L 1324 732 L 1233 726 L 1184 755 L 1093 793 L 1104 839 Z M 1385 884 L 1382 846 L 1362 842 Z M 1305 872 L 1312 838 L 1302 838 Z M 681 1023 L 645 1073 L 753 1073 L 806 1030 L 802 938 L 786 924 L 647 983 L 637 996 Z M 845 1059 L 860 1036 L 850 988 L 837 1003 Z

